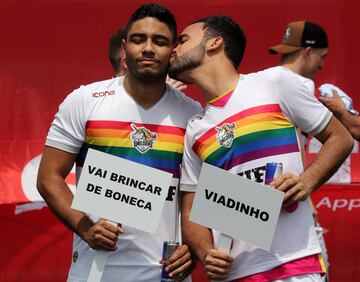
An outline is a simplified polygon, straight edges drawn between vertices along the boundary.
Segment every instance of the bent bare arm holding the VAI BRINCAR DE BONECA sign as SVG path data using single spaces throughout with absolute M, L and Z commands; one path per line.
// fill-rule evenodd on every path
M 37 188 L 49 208 L 93 249 L 113 251 L 122 229 L 100 220 L 94 224 L 83 212 L 71 208 L 73 195 L 65 182 L 76 159 L 75 154 L 45 146 Z

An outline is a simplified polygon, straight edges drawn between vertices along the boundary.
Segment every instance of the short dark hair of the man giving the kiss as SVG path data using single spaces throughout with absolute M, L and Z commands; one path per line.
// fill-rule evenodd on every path
M 205 40 L 216 36 L 223 38 L 225 54 L 237 69 L 246 48 L 246 36 L 242 28 L 231 18 L 223 15 L 210 16 L 194 23 L 204 24 Z

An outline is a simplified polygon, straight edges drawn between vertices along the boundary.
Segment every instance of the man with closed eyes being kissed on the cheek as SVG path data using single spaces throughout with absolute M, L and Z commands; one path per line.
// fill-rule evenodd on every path
M 65 99 L 51 125 L 39 168 L 39 192 L 75 232 L 68 281 L 87 281 L 92 249 L 111 252 L 102 281 L 160 281 L 163 241 L 177 239 L 185 127 L 201 108 L 165 83 L 176 40 L 176 22 L 167 9 L 141 6 L 130 17 L 125 34 L 127 74 L 82 86 Z M 153 137 L 146 152 L 132 139 L 136 129 Z M 156 234 L 113 226 L 70 208 L 73 195 L 65 177 L 75 161 L 79 177 L 89 148 L 173 173 Z M 191 262 L 187 246 L 180 246 L 166 262 L 170 276 L 188 274 Z

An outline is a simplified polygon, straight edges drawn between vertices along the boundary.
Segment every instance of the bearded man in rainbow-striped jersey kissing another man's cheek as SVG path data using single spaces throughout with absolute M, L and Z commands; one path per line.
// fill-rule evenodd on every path
M 308 196 L 344 161 L 352 138 L 314 97 L 311 80 L 283 67 L 239 76 L 245 43 L 235 22 L 212 16 L 185 28 L 170 60 L 170 77 L 196 84 L 207 101 L 204 114 L 189 121 L 185 136 L 183 239 L 210 279 L 321 281 L 321 249 Z M 231 131 L 230 145 L 222 142 L 220 128 Z M 297 128 L 323 143 L 305 171 Z M 272 183 L 285 197 L 271 251 L 240 240 L 233 240 L 230 254 L 216 250 L 219 232 L 212 230 L 213 244 L 211 231 L 189 220 L 202 162 L 261 183 L 266 163 L 283 164 L 286 173 Z

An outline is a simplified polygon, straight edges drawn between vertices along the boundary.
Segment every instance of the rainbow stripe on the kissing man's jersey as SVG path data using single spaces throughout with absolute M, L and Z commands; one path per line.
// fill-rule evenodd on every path
M 224 125 L 233 129 L 228 147 L 216 138 Z M 225 119 L 204 133 L 192 148 L 202 161 L 225 170 L 259 158 L 299 151 L 296 128 L 278 104 L 249 108 Z

